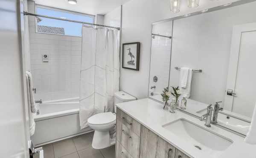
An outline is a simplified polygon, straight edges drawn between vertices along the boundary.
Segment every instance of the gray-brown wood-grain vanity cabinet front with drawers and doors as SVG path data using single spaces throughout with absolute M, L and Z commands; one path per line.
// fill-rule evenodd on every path
M 189 158 L 116 108 L 116 158 Z

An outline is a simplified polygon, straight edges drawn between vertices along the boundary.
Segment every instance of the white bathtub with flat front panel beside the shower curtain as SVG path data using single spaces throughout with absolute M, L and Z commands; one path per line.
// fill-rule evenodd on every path
M 32 135 L 36 147 L 93 131 L 90 127 L 80 130 L 79 98 L 43 102 L 38 110 Z

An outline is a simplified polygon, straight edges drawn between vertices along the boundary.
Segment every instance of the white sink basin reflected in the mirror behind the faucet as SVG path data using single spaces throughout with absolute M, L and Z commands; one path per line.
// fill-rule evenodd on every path
M 207 112 L 206 109 L 200 110 L 197 113 L 200 115 L 204 115 Z M 238 133 L 247 135 L 250 123 L 247 121 L 243 121 L 239 118 L 235 118 L 224 113 L 219 112 L 217 118 L 218 124 L 227 127 L 228 129 L 234 130 Z

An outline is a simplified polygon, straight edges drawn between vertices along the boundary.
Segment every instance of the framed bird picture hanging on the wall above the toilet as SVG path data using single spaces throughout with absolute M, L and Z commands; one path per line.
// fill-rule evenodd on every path
M 122 68 L 139 71 L 140 42 L 123 43 Z

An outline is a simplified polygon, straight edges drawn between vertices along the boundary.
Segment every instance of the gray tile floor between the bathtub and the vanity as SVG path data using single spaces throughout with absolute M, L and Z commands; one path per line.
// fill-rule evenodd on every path
M 93 133 L 79 135 L 43 146 L 44 158 L 115 158 L 115 146 L 93 149 Z

